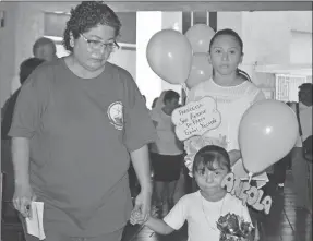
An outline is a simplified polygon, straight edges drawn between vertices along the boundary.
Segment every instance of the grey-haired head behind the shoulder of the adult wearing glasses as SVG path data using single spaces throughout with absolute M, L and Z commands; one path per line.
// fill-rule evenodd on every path
M 38 59 L 52 61 L 58 58 L 56 44 L 50 38 L 40 37 L 33 45 L 33 55 Z

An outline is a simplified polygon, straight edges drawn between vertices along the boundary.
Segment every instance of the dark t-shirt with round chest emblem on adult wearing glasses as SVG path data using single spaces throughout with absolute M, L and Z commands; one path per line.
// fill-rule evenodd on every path
M 31 141 L 31 183 L 45 202 L 45 229 L 74 237 L 127 222 L 129 153 L 156 136 L 125 70 L 107 62 L 99 76 L 80 79 L 63 59 L 44 63 L 23 85 L 9 135 Z

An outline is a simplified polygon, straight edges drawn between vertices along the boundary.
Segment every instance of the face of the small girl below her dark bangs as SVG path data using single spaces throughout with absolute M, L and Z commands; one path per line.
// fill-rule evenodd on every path
M 194 173 L 194 179 L 203 192 L 214 194 L 224 190 L 221 188 L 221 181 L 227 173 L 227 168 L 218 165 L 216 161 L 213 162 L 213 170 L 200 164 L 197 171 Z

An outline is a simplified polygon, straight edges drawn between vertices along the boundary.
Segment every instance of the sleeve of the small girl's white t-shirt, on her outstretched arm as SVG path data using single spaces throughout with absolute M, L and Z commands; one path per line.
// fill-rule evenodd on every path
M 164 221 L 174 230 L 179 230 L 186 220 L 188 196 L 181 197 L 173 208 L 164 217 Z

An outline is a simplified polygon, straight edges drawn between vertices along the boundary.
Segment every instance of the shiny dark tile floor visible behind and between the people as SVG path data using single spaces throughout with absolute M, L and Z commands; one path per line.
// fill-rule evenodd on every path
M 262 241 L 312 241 L 312 214 L 294 208 L 291 184 L 292 177 L 288 172 L 284 193 L 272 191 L 270 214 L 261 220 Z M 181 192 L 182 186 L 178 190 Z M 23 237 L 16 229 L 2 225 L 2 240 L 23 241 Z M 122 241 L 186 241 L 186 228 L 170 236 L 158 236 L 145 227 L 128 226 Z

